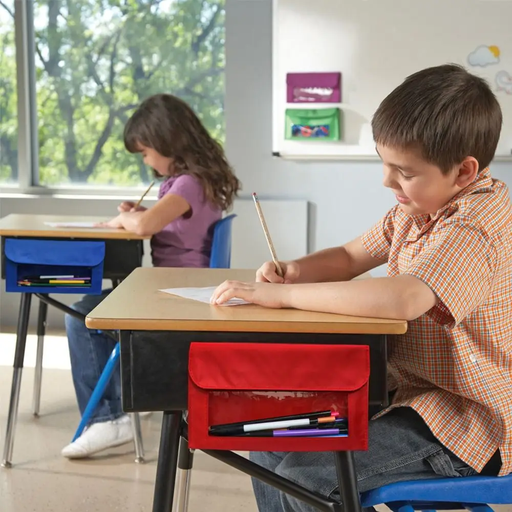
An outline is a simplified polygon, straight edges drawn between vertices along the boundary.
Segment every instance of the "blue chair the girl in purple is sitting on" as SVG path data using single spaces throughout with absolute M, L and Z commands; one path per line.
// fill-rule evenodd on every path
M 236 217 L 235 214 L 228 215 L 224 219 L 216 222 L 214 225 L 214 236 L 211 244 L 211 254 L 210 254 L 210 268 L 229 268 L 231 263 L 231 224 L 233 219 Z M 116 368 L 116 365 L 119 362 L 119 342 L 114 347 L 112 354 L 107 361 L 105 368 L 101 372 L 100 378 L 98 379 L 98 383 L 94 388 L 94 391 L 89 399 L 86 410 L 83 411 L 82 418 L 76 429 L 75 435 L 73 437 L 73 441 L 76 441 L 80 437 L 83 432 L 83 429 L 86 428 L 86 425 L 89 423 L 92 414 L 98 407 L 98 403 L 105 392 L 105 388 L 108 385 L 112 374 Z M 140 426 L 138 425 L 138 416 L 136 419 L 136 431 L 140 431 Z M 137 437 L 136 438 L 136 451 L 137 449 Z M 137 459 L 141 459 L 141 456 L 137 453 Z

